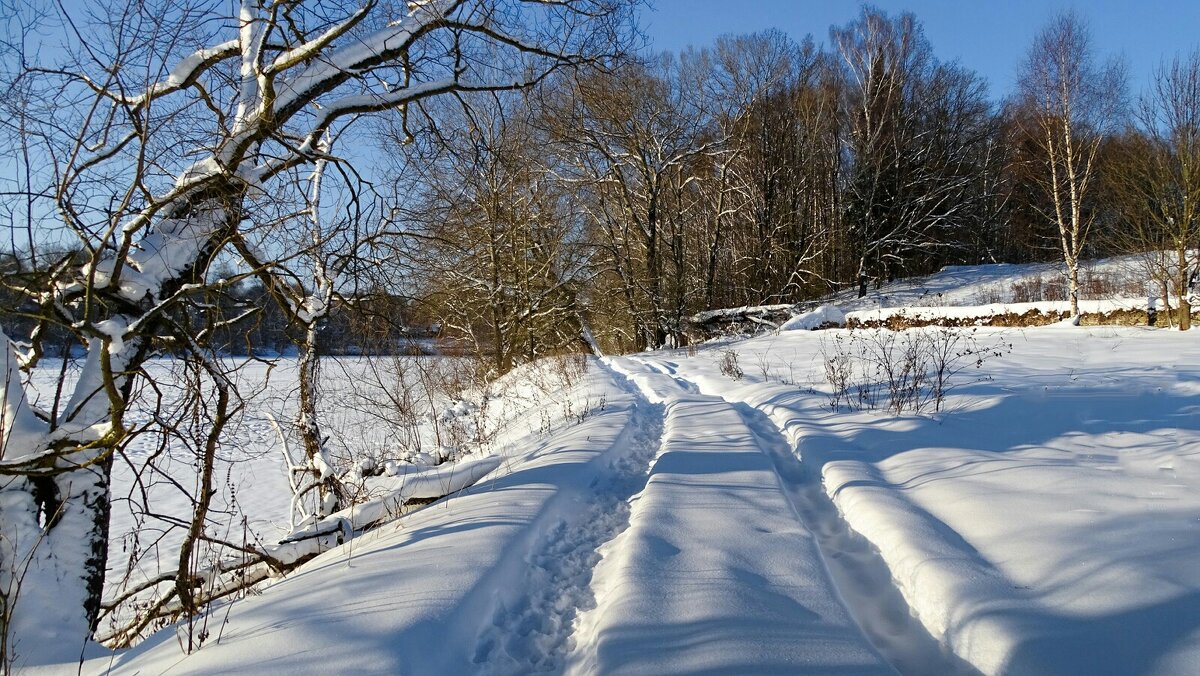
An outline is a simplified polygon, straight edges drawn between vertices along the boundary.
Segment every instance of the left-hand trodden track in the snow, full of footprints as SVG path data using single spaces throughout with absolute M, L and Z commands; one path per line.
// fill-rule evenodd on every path
M 630 501 L 646 486 L 661 445 L 662 406 L 606 367 L 635 395 L 631 420 L 608 451 L 616 455 L 606 471 L 587 491 L 569 496 L 564 518 L 536 540 L 522 582 L 527 593 L 514 606 L 496 609 L 474 656 L 482 674 L 562 671 L 580 615 L 595 608 L 592 576 L 601 548 L 629 527 Z

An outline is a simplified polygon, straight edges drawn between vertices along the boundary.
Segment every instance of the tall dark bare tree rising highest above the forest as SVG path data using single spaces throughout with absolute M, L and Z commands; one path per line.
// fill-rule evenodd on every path
M 871 280 L 920 271 L 918 257 L 936 269 L 982 225 L 992 118 L 979 78 L 940 64 L 913 14 L 866 7 L 832 37 L 846 82 L 846 227 L 865 295 Z

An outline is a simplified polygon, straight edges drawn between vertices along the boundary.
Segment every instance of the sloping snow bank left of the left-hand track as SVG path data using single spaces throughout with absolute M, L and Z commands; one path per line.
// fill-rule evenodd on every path
M 581 543 L 574 556 L 583 563 L 575 576 L 564 575 L 558 596 L 545 597 L 547 580 L 529 575 L 529 562 L 548 556 L 540 552 L 553 551 L 558 534 L 580 526 L 581 510 L 606 491 L 628 497 L 626 483 L 608 479 L 630 473 L 623 462 L 636 455 L 644 432 L 632 397 L 604 371 L 592 370 L 564 396 L 598 393 L 606 397 L 602 411 L 558 433 L 528 437 L 528 448 L 464 495 L 326 552 L 260 596 L 215 609 L 212 636 L 194 654 L 181 654 L 168 630 L 112 662 L 90 662 L 85 671 L 295 674 L 323 665 L 467 674 L 546 664 L 565 650 L 568 611 L 578 603 L 577 588 L 587 587 L 587 557 L 600 543 Z M 642 467 L 632 475 L 644 475 Z M 554 564 L 565 570 L 570 562 Z M 530 606 L 534 594 L 544 603 Z

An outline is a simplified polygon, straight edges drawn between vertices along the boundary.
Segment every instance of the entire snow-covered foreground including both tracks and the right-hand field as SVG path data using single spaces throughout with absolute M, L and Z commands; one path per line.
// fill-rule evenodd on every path
M 1006 303 L 1028 271 L 875 303 Z M 167 629 L 83 671 L 1200 672 L 1200 333 L 978 329 L 920 412 L 835 395 L 850 334 L 510 384 L 474 487 L 212 609 L 193 654 Z M 230 480 L 266 538 L 286 486 L 247 430 Z

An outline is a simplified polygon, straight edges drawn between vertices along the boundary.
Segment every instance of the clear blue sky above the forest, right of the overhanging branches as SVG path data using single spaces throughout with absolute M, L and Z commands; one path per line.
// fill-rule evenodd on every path
M 642 23 L 655 50 L 710 44 L 726 32 L 778 28 L 799 40 L 828 41 L 829 26 L 852 20 L 854 0 L 650 0 Z M 1088 19 L 1102 54 L 1123 54 L 1136 94 L 1164 56 L 1200 47 L 1200 0 L 877 0 L 895 14 L 911 11 L 938 59 L 958 60 L 988 78 L 991 96 L 1008 94 L 1033 34 L 1074 7 Z

